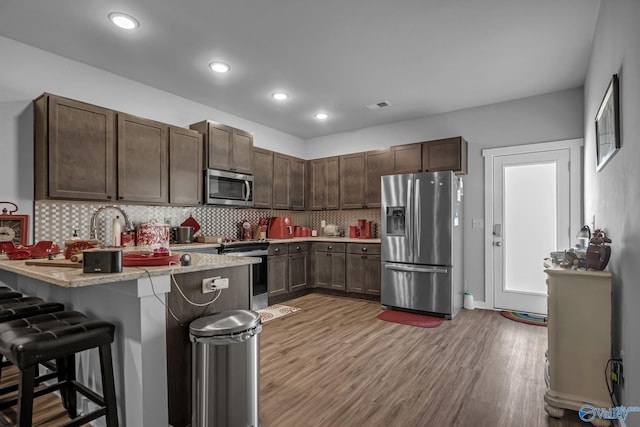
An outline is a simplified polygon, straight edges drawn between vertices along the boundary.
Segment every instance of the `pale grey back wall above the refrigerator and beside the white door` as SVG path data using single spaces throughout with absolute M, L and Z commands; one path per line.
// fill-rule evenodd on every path
M 583 109 L 582 88 L 577 88 L 307 140 L 307 156 L 462 135 L 469 143 L 469 174 L 464 178 L 465 279 L 475 300 L 485 301 L 484 230 L 471 227 L 472 219 L 484 217 L 482 149 L 582 138 Z

